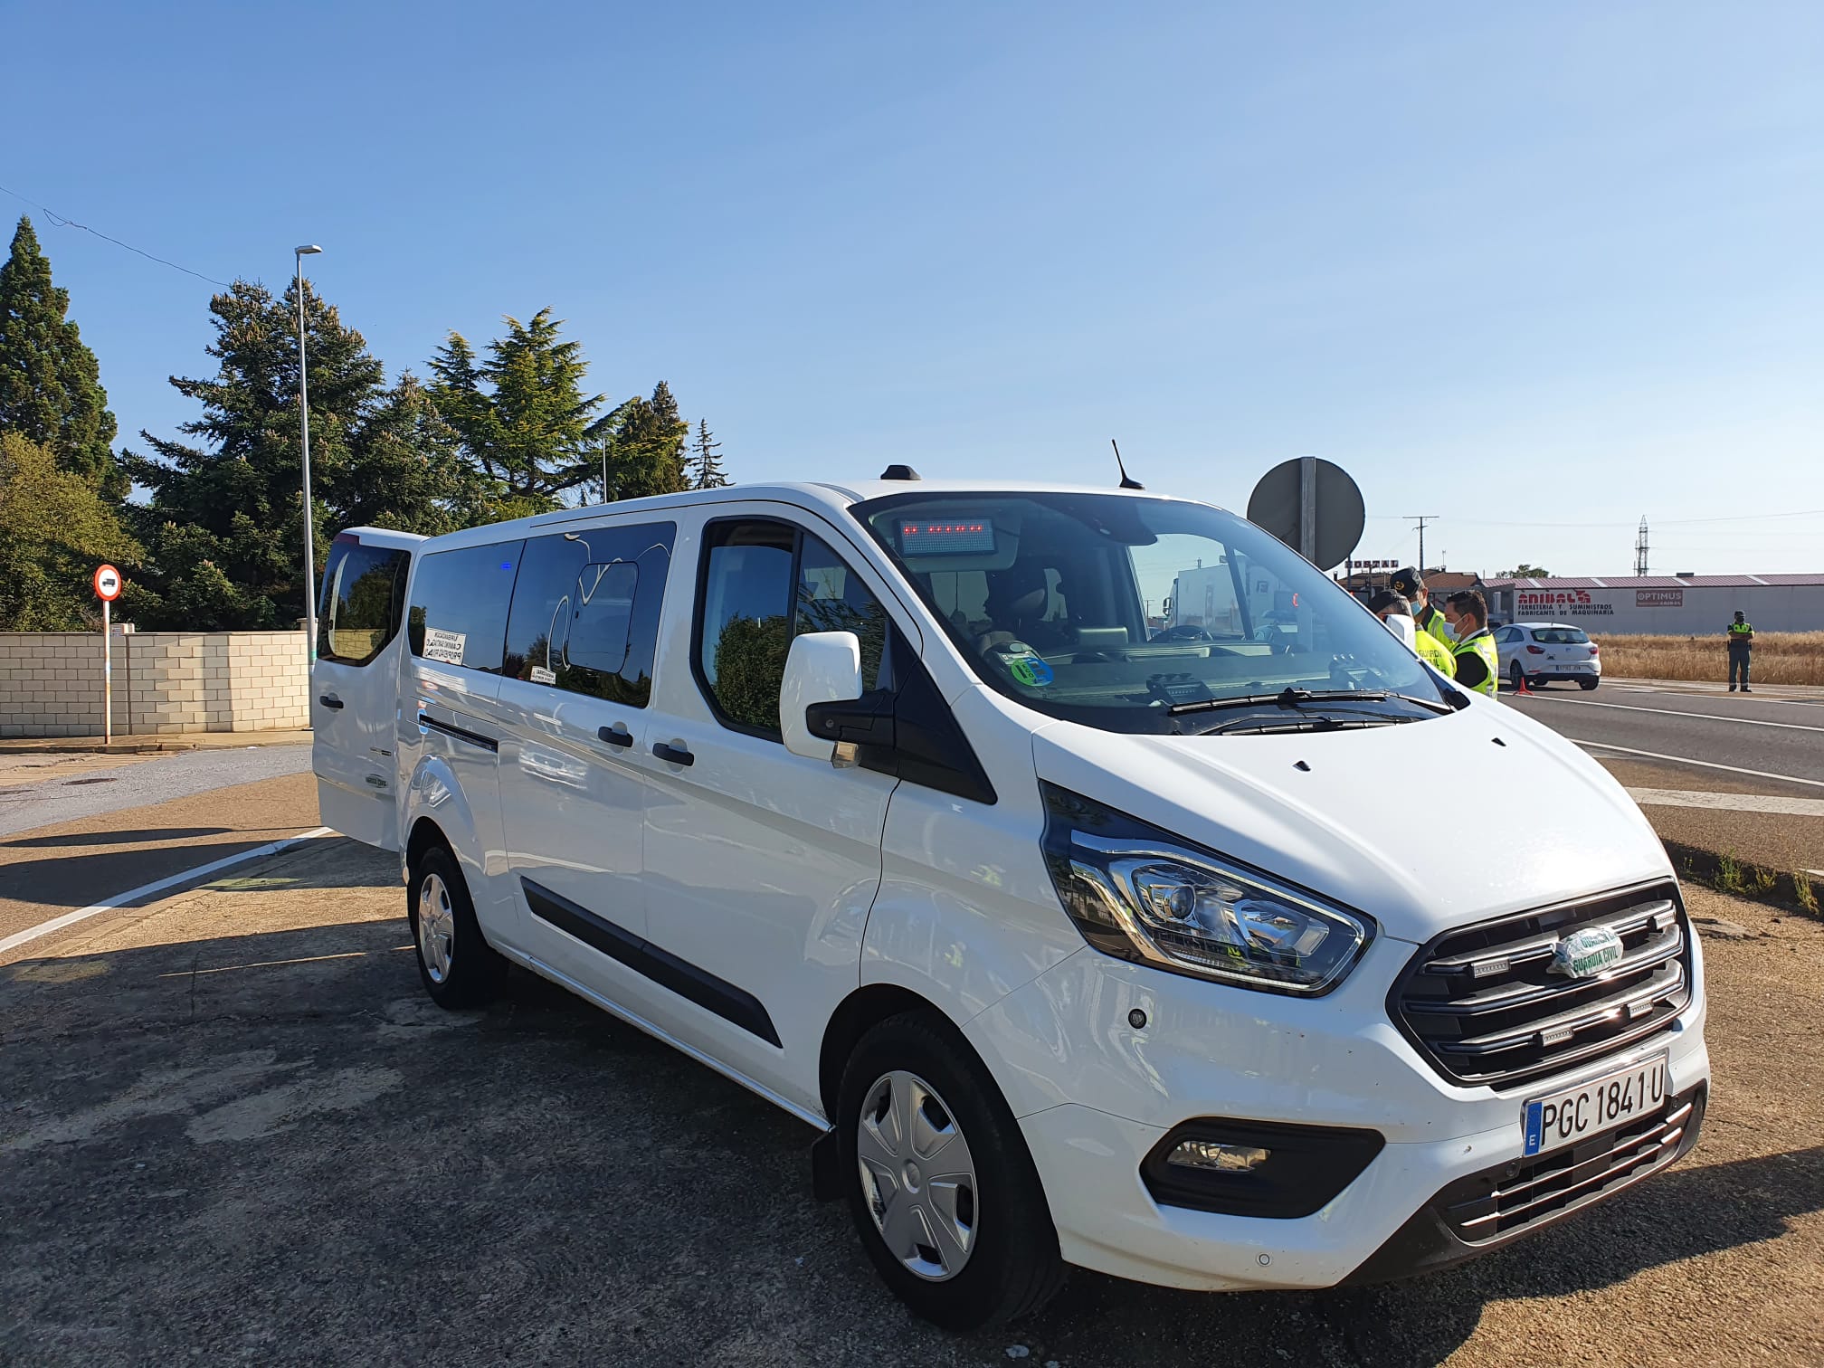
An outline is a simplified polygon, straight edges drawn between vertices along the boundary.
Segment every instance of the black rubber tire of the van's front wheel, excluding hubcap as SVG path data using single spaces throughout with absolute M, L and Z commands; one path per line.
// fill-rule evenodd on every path
M 888 1074 L 916 1074 L 950 1109 L 979 1184 L 970 1198 L 970 1251 L 945 1280 L 919 1277 L 888 1248 L 861 1176 L 863 1107 Z M 855 1233 L 881 1279 L 914 1313 L 945 1330 L 979 1330 L 1036 1311 L 1063 1286 L 1058 1231 L 1020 1124 L 948 1021 L 916 1010 L 868 1031 L 843 1069 L 835 1129 Z

